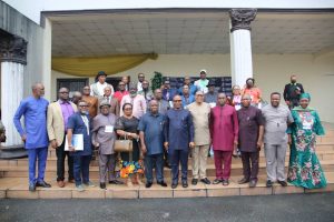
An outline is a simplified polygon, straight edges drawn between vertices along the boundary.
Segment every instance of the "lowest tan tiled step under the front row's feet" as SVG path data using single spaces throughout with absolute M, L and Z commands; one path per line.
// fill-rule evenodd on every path
M 327 186 L 324 189 L 307 190 L 296 188 L 288 184 L 282 188 L 279 184 L 274 184 L 273 188 L 266 188 L 265 176 L 259 176 L 256 188 L 248 188 L 248 184 L 237 184 L 240 179 L 238 176 L 230 178 L 230 184 L 223 186 L 222 184 L 190 184 L 184 189 L 178 185 L 177 189 L 170 188 L 170 180 L 166 179 L 168 186 L 161 188 L 154 184 L 150 189 L 145 185 L 107 185 L 107 190 L 98 188 L 98 180 L 92 180 L 96 188 L 88 188 L 84 192 L 78 192 L 72 183 L 67 183 L 65 188 L 58 188 L 55 180 L 46 178 L 52 188 L 38 188 L 36 192 L 28 191 L 28 182 L 24 178 L 2 178 L 0 179 L 0 199 L 144 199 L 144 198 L 209 198 L 209 196 L 232 196 L 232 195 L 272 195 L 287 193 L 310 193 L 310 192 L 333 192 L 334 191 L 334 172 L 327 172 Z M 209 178 L 214 180 L 214 178 Z

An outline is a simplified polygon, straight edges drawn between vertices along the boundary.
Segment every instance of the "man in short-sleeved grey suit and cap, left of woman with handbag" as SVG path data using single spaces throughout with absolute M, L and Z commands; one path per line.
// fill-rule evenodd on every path
M 115 165 L 116 153 L 114 151 L 114 143 L 116 140 L 115 123 L 117 117 L 110 113 L 110 103 L 102 101 L 100 103 L 100 111 L 92 120 L 92 144 L 99 149 L 99 170 L 100 170 L 100 188 L 106 189 L 106 178 L 109 171 L 109 183 L 122 184 L 116 180 Z

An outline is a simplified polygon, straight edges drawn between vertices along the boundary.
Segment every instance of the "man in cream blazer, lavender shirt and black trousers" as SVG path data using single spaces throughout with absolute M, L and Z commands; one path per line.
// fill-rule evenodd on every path
M 59 188 L 65 186 L 65 159 L 68 163 L 68 182 L 73 183 L 73 159 L 65 151 L 65 138 L 67 122 L 70 115 L 77 111 L 77 105 L 69 101 L 69 90 L 60 88 L 58 101 L 48 107 L 48 135 L 51 148 L 56 149 L 57 155 L 57 183 Z

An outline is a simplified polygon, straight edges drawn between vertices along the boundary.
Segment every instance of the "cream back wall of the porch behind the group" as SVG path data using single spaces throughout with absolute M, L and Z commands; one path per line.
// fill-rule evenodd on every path
M 263 98 L 269 100 L 273 91 L 283 92 L 289 75 L 296 73 L 298 81 L 312 94 L 311 105 L 320 111 L 324 121 L 334 122 L 334 56 L 312 54 L 254 54 L 254 78 L 263 91 Z M 165 75 L 196 75 L 200 69 L 206 69 L 208 75 L 230 75 L 229 54 L 160 54 L 158 60 L 147 60 L 140 65 L 116 74 L 130 75 L 137 79 L 137 73 L 144 72 L 147 79 L 154 71 Z M 73 78 L 52 71 L 52 99 L 56 99 L 57 78 Z M 94 78 L 90 78 L 90 83 Z

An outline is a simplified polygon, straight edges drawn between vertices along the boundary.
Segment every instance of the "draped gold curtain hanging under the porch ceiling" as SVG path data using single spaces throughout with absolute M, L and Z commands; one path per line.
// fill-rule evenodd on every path
M 53 57 L 52 70 L 77 77 L 96 77 L 99 71 L 115 74 L 131 69 L 147 59 L 156 60 L 156 53 L 110 57 Z

